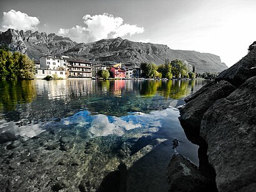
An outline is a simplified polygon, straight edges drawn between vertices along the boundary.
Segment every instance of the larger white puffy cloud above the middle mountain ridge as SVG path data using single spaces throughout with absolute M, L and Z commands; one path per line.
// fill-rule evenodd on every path
M 121 17 L 114 17 L 107 13 L 94 16 L 87 14 L 82 19 L 84 19 L 86 26 L 59 29 L 58 34 L 70 37 L 77 42 L 93 42 L 106 38 L 132 36 L 144 32 L 144 27 L 123 24 L 124 20 Z

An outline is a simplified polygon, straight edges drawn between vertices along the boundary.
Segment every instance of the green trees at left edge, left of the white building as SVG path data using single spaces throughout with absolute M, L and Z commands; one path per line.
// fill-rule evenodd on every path
M 34 74 L 34 62 L 27 55 L 0 47 L 0 80 L 33 79 Z

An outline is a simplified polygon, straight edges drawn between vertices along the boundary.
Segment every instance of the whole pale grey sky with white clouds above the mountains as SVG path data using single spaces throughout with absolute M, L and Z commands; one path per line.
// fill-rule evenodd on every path
M 219 55 L 230 67 L 256 41 L 255 10 L 255 0 L 12 0 L 0 2 L 0 31 L 122 37 Z

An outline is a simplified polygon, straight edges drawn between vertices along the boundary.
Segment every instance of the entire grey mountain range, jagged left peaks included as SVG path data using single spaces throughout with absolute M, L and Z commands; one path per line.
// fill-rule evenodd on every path
M 132 67 L 139 66 L 141 62 L 163 64 L 165 59 L 182 59 L 195 65 L 199 73 L 221 72 L 227 69 L 217 55 L 194 50 L 173 50 L 166 45 L 132 42 L 121 37 L 77 44 L 56 34 L 8 29 L 0 33 L 0 44 L 7 44 L 11 50 L 26 53 L 34 59 L 39 59 L 42 54 L 64 54 L 76 59 L 103 63 L 122 62 Z

